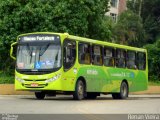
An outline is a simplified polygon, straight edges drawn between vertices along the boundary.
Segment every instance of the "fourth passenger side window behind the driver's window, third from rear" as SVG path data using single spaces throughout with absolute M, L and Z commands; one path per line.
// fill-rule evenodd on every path
M 123 49 L 116 49 L 116 67 L 126 67 L 126 51 Z

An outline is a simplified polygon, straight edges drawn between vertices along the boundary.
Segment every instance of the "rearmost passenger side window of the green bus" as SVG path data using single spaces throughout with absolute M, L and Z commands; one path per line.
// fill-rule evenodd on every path
M 137 53 L 137 66 L 139 70 L 146 69 L 146 54 L 142 52 Z

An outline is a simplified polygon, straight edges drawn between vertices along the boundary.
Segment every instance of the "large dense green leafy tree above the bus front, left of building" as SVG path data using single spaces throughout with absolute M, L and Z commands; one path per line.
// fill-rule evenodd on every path
M 68 32 L 105 39 L 108 0 L 0 0 L 0 68 L 10 69 L 10 44 L 29 32 Z M 99 34 L 101 36 L 99 36 Z

